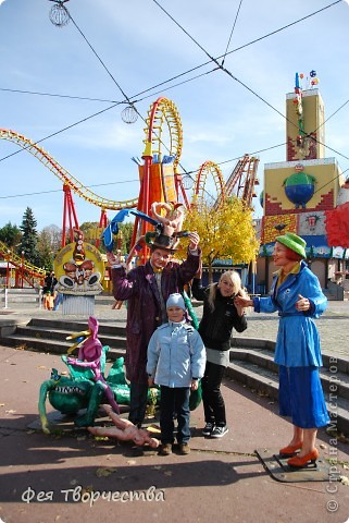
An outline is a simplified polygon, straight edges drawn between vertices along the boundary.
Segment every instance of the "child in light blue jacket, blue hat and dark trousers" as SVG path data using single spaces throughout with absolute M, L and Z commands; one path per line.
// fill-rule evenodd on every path
M 148 345 L 148 385 L 160 385 L 160 453 L 170 455 L 174 442 L 174 412 L 177 415 L 177 441 L 180 454 L 190 452 L 190 389 L 197 390 L 205 366 L 205 350 L 197 330 L 187 324 L 180 294 L 166 302 L 169 323 L 159 327 Z

